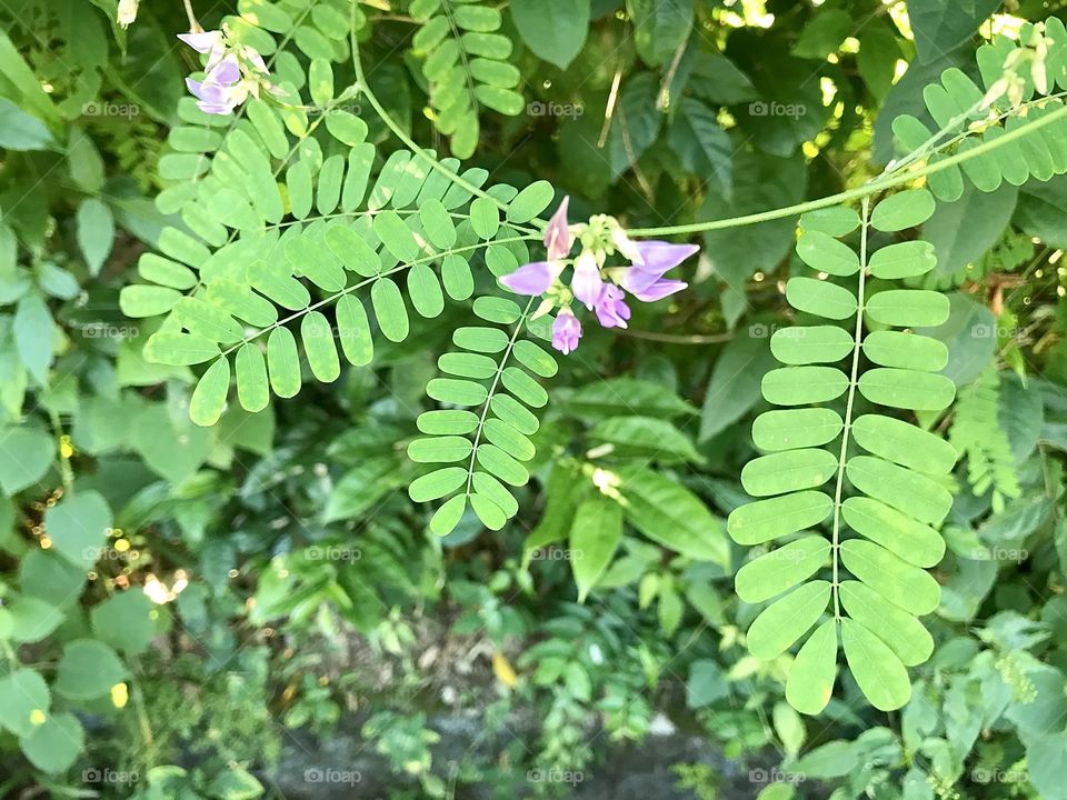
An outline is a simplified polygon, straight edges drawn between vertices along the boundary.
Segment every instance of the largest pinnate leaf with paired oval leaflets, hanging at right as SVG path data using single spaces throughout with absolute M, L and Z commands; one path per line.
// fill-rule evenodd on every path
M 935 261 L 931 246 L 921 241 L 889 243 L 870 256 L 869 227 L 903 231 L 933 210 L 933 196 L 919 189 L 890 194 L 869 214 L 865 201 L 858 220 L 848 209 L 801 218 L 797 253 L 820 276 L 791 278 L 786 298 L 797 311 L 841 324 L 797 326 L 772 336 L 771 353 L 786 366 L 767 372 L 761 390 L 768 402 L 787 408 L 752 423 L 752 441 L 766 454 L 746 464 L 741 486 L 759 499 L 736 509 L 727 530 L 745 546 L 804 532 L 735 576 L 746 602 L 787 592 L 756 617 L 748 647 L 769 660 L 801 642 L 786 698 L 804 713 L 819 713 L 829 702 L 838 632 L 857 683 L 884 710 L 907 701 L 906 666 L 933 651 L 917 617 L 940 598 L 925 570 L 945 553 L 935 526 L 948 513 L 951 494 L 933 476 L 951 471 L 955 449 L 877 410 L 854 417 L 857 400 L 914 412 L 944 410 L 955 397 L 955 384 L 937 374 L 947 362 L 946 347 L 893 330 L 943 323 L 947 298 L 891 286 L 866 296 L 869 277 L 915 278 Z M 842 241 L 857 224 L 858 241 Z M 865 324 L 881 329 L 867 332 Z M 855 446 L 860 451 L 852 454 Z M 811 532 L 822 524 L 829 538 Z M 822 572 L 827 562 L 832 569 Z M 805 640 L 828 609 L 830 618 Z

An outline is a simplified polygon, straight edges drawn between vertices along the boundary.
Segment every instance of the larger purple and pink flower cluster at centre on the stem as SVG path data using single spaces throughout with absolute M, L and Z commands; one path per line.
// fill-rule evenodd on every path
M 581 322 L 570 308 L 574 298 L 594 311 L 604 328 L 626 328 L 630 319 L 627 292 L 642 302 L 655 302 L 686 288 L 687 283 L 664 276 L 699 250 L 696 244 L 671 244 L 665 241 L 632 241 L 615 220 L 594 218 L 585 227 L 584 249 L 569 261 L 574 236 L 567 224 L 569 198 L 564 198 L 545 230 L 547 261 L 535 261 L 519 267 L 500 279 L 503 286 L 518 294 L 537 297 L 549 293 L 559 303 L 552 323 L 552 347 L 569 353 L 578 347 Z M 596 231 L 592 223 L 597 222 Z M 600 240 L 604 234 L 606 241 Z M 618 251 L 630 263 L 627 267 L 605 268 L 610 251 Z M 568 264 L 574 264 L 569 288 L 560 282 Z M 606 280 L 607 278 L 607 280 Z M 550 307 L 549 307 L 550 308 Z

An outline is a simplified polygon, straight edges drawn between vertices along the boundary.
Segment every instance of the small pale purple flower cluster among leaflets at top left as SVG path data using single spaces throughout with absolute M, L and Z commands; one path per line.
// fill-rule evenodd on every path
M 267 81 L 267 64 L 253 48 L 227 47 L 222 31 L 179 33 L 178 38 L 197 52 L 208 54 L 203 80 L 186 78 L 201 111 L 230 114 L 249 94 L 259 97 L 261 86 L 275 90 Z

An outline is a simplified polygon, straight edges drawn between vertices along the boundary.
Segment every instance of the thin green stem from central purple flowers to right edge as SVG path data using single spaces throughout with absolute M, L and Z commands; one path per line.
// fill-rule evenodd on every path
M 1053 124 L 1054 122 L 1060 122 L 1065 117 L 1067 117 L 1067 106 L 1061 106 L 1040 119 L 1034 120 L 1025 126 L 1020 126 L 1015 130 L 1007 131 L 1004 136 L 997 137 L 996 139 L 984 141 L 980 144 L 970 148 L 969 150 L 956 152 L 953 156 L 937 161 L 936 163 L 926 163 L 918 169 L 901 171 L 899 173 L 889 173 L 881 178 L 876 178 L 872 181 L 868 181 L 864 186 L 857 187 L 856 189 L 849 189 L 847 191 L 838 192 L 837 194 L 830 194 L 829 197 L 820 198 L 818 200 L 809 200 L 807 202 L 787 206 L 785 208 L 774 209 L 770 211 L 761 211 L 759 213 L 745 214 L 741 217 L 732 217 L 722 220 L 711 220 L 709 222 L 694 222 L 691 224 L 666 226 L 662 228 L 635 228 L 628 230 L 627 233 L 635 237 L 701 233 L 709 230 L 724 230 L 727 228 L 740 228 L 741 226 L 757 224 L 759 222 L 769 222 L 771 220 L 782 219 L 786 217 L 796 217 L 798 214 L 806 213 L 807 211 L 815 211 L 816 209 L 820 208 L 838 206 L 840 203 L 848 202 L 849 200 L 861 200 L 864 198 L 869 198 L 872 194 L 877 194 L 878 192 L 885 191 L 886 189 L 893 189 L 901 183 L 908 183 L 910 181 L 918 180 L 919 178 L 925 178 L 926 176 L 940 172 L 941 170 L 946 170 L 949 167 L 963 163 L 969 159 L 991 152 L 999 147 L 1004 147 L 1005 144 L 1015 141 L 1016 139 L 1021 139 L 1025 136 L 1029 136 L 1030 133 L 1046 126 Z

